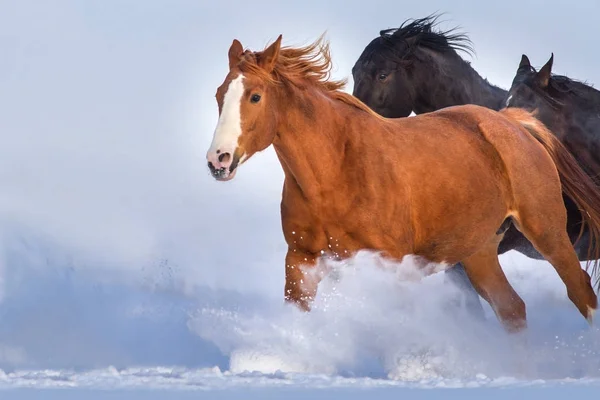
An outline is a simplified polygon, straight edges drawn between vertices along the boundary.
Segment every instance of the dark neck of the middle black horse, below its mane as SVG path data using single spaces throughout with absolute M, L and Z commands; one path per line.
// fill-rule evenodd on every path
M 456 51 L 431 50 L 417 57 L 414 111 L 416 114 L 444 107 L 476 104 L 499 110 L 507 92 L 483 79 Z

